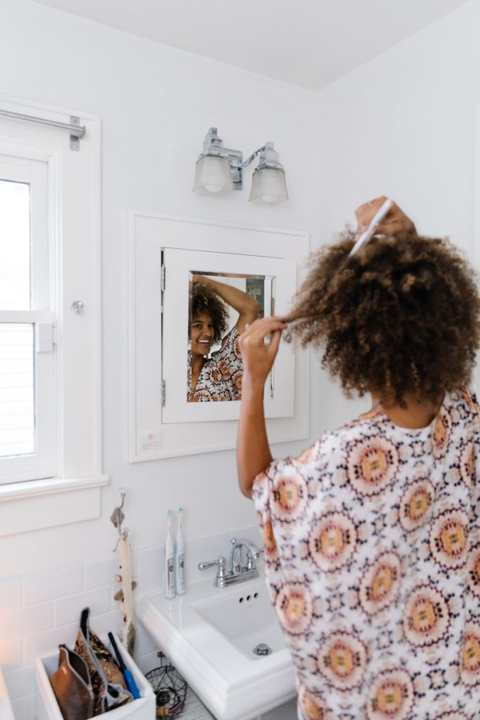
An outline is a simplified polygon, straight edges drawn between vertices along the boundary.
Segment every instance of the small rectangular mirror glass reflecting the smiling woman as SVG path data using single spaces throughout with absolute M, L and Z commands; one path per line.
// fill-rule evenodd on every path
M 189 271 L 188 402 L 241 399 L 238 338 L 245 325 L 273 315 L 274 283 L 271 275 Z M 266 388 L 273 397 L 273 371 Z

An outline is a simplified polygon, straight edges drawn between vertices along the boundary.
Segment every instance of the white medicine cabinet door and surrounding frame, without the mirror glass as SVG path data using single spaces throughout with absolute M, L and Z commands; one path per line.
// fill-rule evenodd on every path
M 243 290 L 247 280 L 250 286 L 250 279 L 263 279 L 263 301 L 258 288 L 255 297 L 264 315 L 285 315 L 302 281 L 308 235 L 133 210 L 130 220 L 131 462 L 233 448 L 241 403 L 186 397 L 189 278 L 195 271 L 220 282 L 235 279 Z M 273 443 L 309 437 L 308 378 L 308 354 L 280 343 L 263 398 Z

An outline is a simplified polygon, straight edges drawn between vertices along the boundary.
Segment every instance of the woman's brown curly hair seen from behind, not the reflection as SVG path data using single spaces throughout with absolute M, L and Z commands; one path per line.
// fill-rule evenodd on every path
M 352 258 L 352 233 L 310 258 L 287 318 L 345 395 L 438 402 L 471 379 L 480 343 L 476 275 L 448 240 L 374 238 Z

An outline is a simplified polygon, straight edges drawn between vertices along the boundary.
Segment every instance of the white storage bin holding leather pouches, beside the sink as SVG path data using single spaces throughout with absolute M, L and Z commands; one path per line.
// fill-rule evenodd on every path
M 109 710 L 107 713 L 99 715 L 99 718 L 108 720 L 155 720 L 155 694 L 152 686 L 142 675 L 132 657 L 124 649 L 122 643 L 116 635 L 117 647 L 122 654 L 125 665 L 133 675 L 133 679 L 140 692 L 138 700 L 132 700 L 127 705 Z M 109 646 L 108 640 L 104 641 Z M 50 685 L 50 675 L 58 668 L 58 652 L 54 655 L 46 657 L 37 657 L 35 660 L 35 681 L 37 685 L 36 701 L 35 701 L 35 720 L 63 720 L 63 715 L 58 707 L 55 693 L 52 685 Z

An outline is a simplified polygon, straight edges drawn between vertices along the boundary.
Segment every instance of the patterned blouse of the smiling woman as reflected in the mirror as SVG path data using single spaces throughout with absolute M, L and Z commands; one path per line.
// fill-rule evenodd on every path
M 198 397 L 199 402 L 209 400 L 240 400 L 242 397 L 243 362 L 238 347 L 236 326 L 222 339 L 222 347 L 204 362 L 193 395 L 191 394 L 191 353 L 188 356 L 187 400 Z

